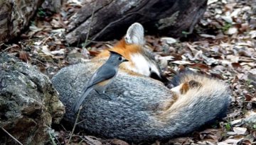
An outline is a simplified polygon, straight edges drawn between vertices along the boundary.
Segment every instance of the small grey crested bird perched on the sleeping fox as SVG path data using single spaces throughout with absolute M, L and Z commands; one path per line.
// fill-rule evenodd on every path
M 75 104 L 73 105 L 74 112 L 78 112 L 82 101 L 85 100 L 85 97 L 90 93 L 90 91 L 95 90 L 100 95 L 105 94 L 105 89 L 113 81 L 114 76 L 117 75 L 119 64 L 128 61 L 127 59 L 124 59 L 121 54 L 111 50 L 109 51 L 110 58 L 107 59 L 107 62 L 100 66 L 94 74 L 92 74 L 92 77 L 87 81 L 84 92 L 75 101 Z

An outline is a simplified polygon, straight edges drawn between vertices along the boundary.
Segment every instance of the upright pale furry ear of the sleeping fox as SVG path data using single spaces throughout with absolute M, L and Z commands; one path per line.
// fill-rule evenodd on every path
M 127 34 L 124 36 L 127 44 L 144 45 L 144 28 L 140 23 L 133 23 L 129 26 Z

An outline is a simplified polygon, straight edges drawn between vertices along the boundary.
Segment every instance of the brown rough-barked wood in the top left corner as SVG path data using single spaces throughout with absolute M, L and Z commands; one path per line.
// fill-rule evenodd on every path
M 0 42 L 21 34 L 43 0 L 0 0 Z

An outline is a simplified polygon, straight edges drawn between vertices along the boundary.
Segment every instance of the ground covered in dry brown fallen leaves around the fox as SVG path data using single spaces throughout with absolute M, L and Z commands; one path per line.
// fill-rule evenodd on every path
M 4 51 L 38 66 L 51 78 L 64 66 L 90 59 L 114 45 L 117 40 L 93 42 L 87 47 L 84 43 L 70 47 L 65 42 L 66 25 L 80 7 L 78 2 L 70 1 L 60 13 L 54 14 L 40 8 L 21 39 L 6 45 Z M 208 0 L 208 9 L 192 34 L 184 32 L 181 39 L 146 35 L 146 45 L 154 51 L 169 79 L 181 69 L 193 69 L 227 82 L 233 99 L 223 120 L 184 137 L 143 144 L 256 144 L 256 124 L 245 121 L 256 114 L 255 1 Z M 56 144 L 66 144 L 70 130 L 63 124 L 53 134 Z M 128 144 L 84 132 L 75 132 L 72 141 L 72 144 Z

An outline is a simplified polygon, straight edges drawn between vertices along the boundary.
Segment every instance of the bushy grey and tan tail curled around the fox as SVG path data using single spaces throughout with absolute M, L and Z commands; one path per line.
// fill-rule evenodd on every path
M 173 83 L 178 87 L 189 81 L 200 85 L 188 88 L 184 94 L 174 95 L 169 108 L 156 115 L 156 120 L 159 120 L 156 125 L 168 127 L 170 136 L 191 132 L 202 124 L 225 117 L 230 105 L 230 91 L 222 81 L 184 73 L 174 77 Z

